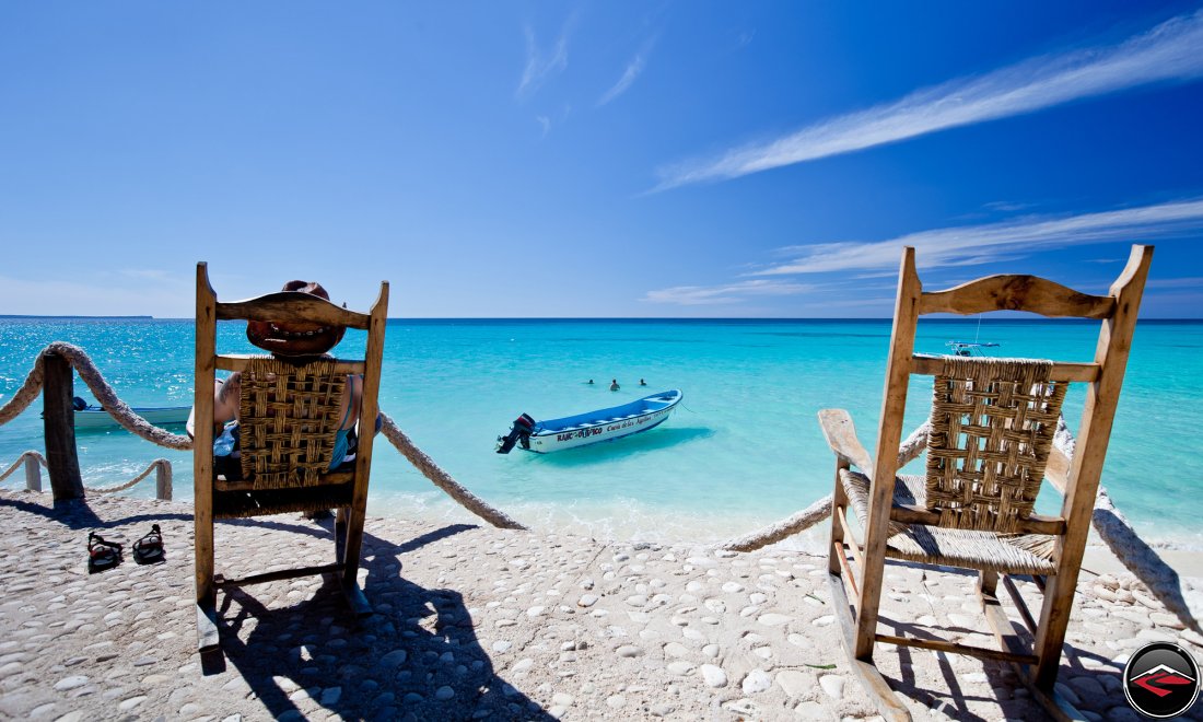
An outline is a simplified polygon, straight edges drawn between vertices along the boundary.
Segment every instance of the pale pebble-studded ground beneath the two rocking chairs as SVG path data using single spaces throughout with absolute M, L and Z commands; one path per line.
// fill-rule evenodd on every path
M 840 649 L 825 560 L 798 552 L 369 519 L 360 578 L 374 615 L 355 621 L 322 578 L 220 593 L 223 649 L 202 658 L 189 504 L 93 496 L 54 508 L 49 495 L 0 491 L 0 523 L 4 718 L 876 715 Z M 126 554 L 88 574 L 89 531 L 128 548 L 152 523 L 164 563 Z M 332 558 L 328 522 L 218 525 L 227 576 Z M 1120 690 L 1128 655 L 1172 640 L 1203 659 L 1203 637 L 1110 563 L 1088 561 L 1059 683 L 1092 720 L 1136 720 Z M 890 564 L 883 626 L 986 643 L 973 581 Z M 877 661 L 917 718 L 1043 718 L 1005 664 L 888 646 Z M 1203 704 L 1190 714 L 1203 720 Z

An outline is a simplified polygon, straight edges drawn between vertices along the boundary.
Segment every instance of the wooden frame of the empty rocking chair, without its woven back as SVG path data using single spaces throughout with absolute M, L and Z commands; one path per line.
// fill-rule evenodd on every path
M 949 290 L 925 292 L 915 272 L 914 249 L 903 250 L 876 455 L 870 457 L 857 440 L 852 420 L 846 412 L 825 409 L 819 413 L 823 433 L 836 455 L 828 562 L 836 617 L 842 627 L 842 640 L 853 668 L 887 720 L 909 720 L 911 715 L 872 662 L 873 647 L 878 641 L 1011 662 L 1051 716 L 1080 717 L 1077 710 L 1056 694 L 1054 683 L 1151 259 L 1151 245 L 1134 245 L 1127 266 L 1107 296 L 1079 294 L 1033 276 L 991 276 Z M 1094 362 L 1053 365 L 1053 379 L 1083 381 L 1088 390 L 1072 462 L 1054 450 L 1045 469 L 1045 477 L 1065 495 L 1060 516 L 1031 514 L 1021 521 L 1021 531 L 1056 534 L 1056 549 L 1051 558 L 1056 573 L 1047 579 L 1037 578 L 1044 593 L 1038 617 L 1029 612 L 1014 584 L 1003 576 L 1005 586 L 1015 600 L 1020 616 L 1031 628 L 1035 644 L 1032 649 L 1025 649 L 1027 645 L 1020 640 L 1000 606 L 996 594 L 1000 574 L 983 569 L 978 569 L 980 602 L 1001 650 L 881 634 L 877 631 L 878 608 L 890 522 L 936 525 L 940 520 L 940 514 L 930 509 L 893 502 L 895 474 L 905 462 L 900 460 L 899 443 L 907 381 L 911 374 L 935 374 L 942 365 L 941 359 L 914 355 L 918 318 L 931 313 L 979 314 L 996 310 L 1026 310 L 1051 318 L 1101 321 Z M 857 540 L 848 523 L 849 498 L 840 480 L 841 471 L 851 467 L 858 467 L 871 484 L 863 543 Z M 890 481 L 883 484 L 878 480 Z M 859 575 L 853 567 L 859 567 Z

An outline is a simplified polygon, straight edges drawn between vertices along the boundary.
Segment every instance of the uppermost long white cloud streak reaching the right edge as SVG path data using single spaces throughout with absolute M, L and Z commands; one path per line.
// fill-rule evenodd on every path
M 1192 81 L 1203 75 L 1199 48 L 1203 11 L 1167 20 L 1116 46 L 1033 58 L 823 120 L 770 142 L 672 165 L 659 171 L 656 190 L 737 178 L 1148 83 Z

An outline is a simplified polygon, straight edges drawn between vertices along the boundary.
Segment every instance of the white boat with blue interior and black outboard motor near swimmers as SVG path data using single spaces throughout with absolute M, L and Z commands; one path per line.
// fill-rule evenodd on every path
M 515 444 L 528 451 L 547 454 L 598 442 L 620 439 L 656 428 L 681 403 L 681 391 L 672 389 L 645 396 L 630 403 L 598 409 L 563 419 L 535 421 L 522 414 L 510 433 L 497 437 L 497 452 L 509 454 Z

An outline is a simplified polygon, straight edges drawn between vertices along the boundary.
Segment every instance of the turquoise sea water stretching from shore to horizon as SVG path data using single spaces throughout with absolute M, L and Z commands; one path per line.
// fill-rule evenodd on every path
M 244 326 L 219 326 L 219 349 L 250 353 Z M 832 458 L 816 421 L 847 408 L 872 449 L 888 320 L 391 320 L 380 407 L 460 483 L 537 528 L 599 538 L 718 542 L 830 492 Z M 1086 361 L 1097 325 L 931 320 L 917 350 L 958 338 L 1001 343 L 996 355 Z M 191 402 L 191 320 L 0 319 L 0 403 L 52 341 L 83 347 L 131 406 Z M 337 349 L 361 354 L 362 333 Z M 595 383 L 591 386 L 587 381 Z M 622 390 L 609 391 L 611 378 Z M 647 387 L 639 386 L 639 379 Z M 920 424 L 930 381 L 915 379 L 907 428 Z M 493 452 L 520 413 L 562 416 L 681 389 L 660 427 L 551 455 Z M 91 401 L 82 381 L 76 395 Z M 1077 426 L 1084 391 L 1069 392 Z M 1203 322 L 1142 321 L 1103 484 L 1150 540 L 1203 549 Z M 41 449 L 40 403 L 0 427 L 0 466 Z M 191 456 L 124 431 L 81 432 L 90 486 L 128 480 L 162 456 L 176 498 L 191 497 Z M 472 521 L 385 440 L 373 461 L 368 513 Z M 17 472 L 6 481 L 22 484 Z M 146 483 L 132 495 L 150 496 Z M 1045 491 L 1042 510 L 1059 504 Z M 806 544 L 802 544 L 806 546 Z

